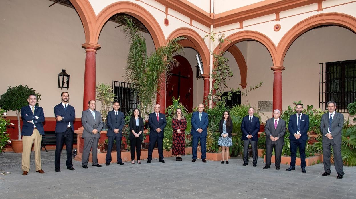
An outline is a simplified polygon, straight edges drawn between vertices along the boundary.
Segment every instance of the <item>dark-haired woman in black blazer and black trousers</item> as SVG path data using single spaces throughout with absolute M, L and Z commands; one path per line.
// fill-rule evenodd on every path
M 132 111 L 132 116 L 129 122 L 130 127 L 130 151 L 131 151 L 131 164 L 135 164 L 135 147 L 136 147 L 136 156 L 137 163 L 141 164 L 141 145 L 143 140 L 143 119 L 141 117 L 141 112 L 138 109 Z

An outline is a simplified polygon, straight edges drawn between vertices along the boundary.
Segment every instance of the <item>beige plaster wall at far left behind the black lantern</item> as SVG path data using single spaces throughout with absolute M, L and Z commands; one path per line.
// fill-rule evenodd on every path
M 25 85 L 42 95 L 39 105 L 46 117 L 54 117 L 53 108 L 61 102 L 58 73 L 71 75 L 69 104 L 81 117 L 85 42 L 77 12 L 66 6 L 43 0 L 0 1 L 0 94 L 7 85 Z M 16 116 L 9 112 L 9 116 Z

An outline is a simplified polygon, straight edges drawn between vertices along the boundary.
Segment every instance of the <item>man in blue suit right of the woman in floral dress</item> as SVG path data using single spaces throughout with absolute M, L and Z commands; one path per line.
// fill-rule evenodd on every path
M 201 148 L 201 161 L 206 162 L 206 136 L 208 136 L 208 114 L 203 112 L 204 105 L 198 105 L 198 111 L 193 112 L 192 114 L 192 162 L 197 160 L 197 148 L 198 148 L 198 140 L 200 140 L 200 148 Z

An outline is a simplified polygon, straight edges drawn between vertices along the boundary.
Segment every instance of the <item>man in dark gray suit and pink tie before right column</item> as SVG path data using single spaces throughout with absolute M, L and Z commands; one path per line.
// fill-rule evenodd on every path
M 266 121 L 266 166 L 263 169 L 271 168 L 272 151 L 274 147 L 274 165 L 279 170 L 281 166 L 282 149 L 284 145 L 284 135 L 286 135 L 286 121 L 279 118 L 281 111 L 274 110 L 273 118 Z

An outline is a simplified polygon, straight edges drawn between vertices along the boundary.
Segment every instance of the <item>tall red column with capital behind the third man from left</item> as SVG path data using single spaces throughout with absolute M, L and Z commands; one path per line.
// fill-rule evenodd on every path
M 96 49 L 100 45 L 87 42 L 82 46 L 85 48 L 83 110 L 87 110 L 88 101 L 95 100 Z

